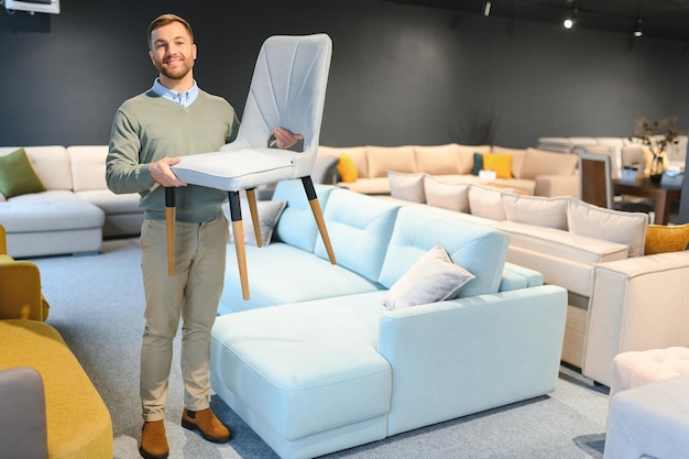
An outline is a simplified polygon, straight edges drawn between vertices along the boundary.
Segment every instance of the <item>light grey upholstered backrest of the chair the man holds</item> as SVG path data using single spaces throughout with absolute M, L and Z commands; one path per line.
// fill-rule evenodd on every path
M 316 161 L 332 42 L 326 34 L 276 35 L 261 47 L 237 143 L 265 146 L 275 127 L 304 135 L 304 156 L 294 177 Z M 239 146 L 238 145 L 238 146 Z

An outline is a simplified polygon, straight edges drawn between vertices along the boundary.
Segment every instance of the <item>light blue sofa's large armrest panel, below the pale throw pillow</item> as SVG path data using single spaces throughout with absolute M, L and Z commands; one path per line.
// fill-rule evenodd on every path
M 385 314 L 389 435 L 551 392 L 566 308 L 567 291 L 545 285 Z

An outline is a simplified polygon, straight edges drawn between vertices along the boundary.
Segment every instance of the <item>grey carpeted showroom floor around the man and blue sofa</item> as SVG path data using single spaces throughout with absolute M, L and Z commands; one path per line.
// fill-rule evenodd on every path
M 112 416 L 114 458 L 139 458 L 139 349 L 143 287 L 139 240 L 111 240 L 90 256 L 37 258 L 48 323 L 63 335 Z M 178 340 L 166 422 L 171 459 L 276 459 L 277 456 L 218 396 L 214 411 L 234 430 L 214 445 L 179 426 Z M 505 383 L 508 383 L 506 381 Z M 328 459 L 581 459 L 602 458 L 608 391 L 561 367 L 556 391 L 326 456 Z

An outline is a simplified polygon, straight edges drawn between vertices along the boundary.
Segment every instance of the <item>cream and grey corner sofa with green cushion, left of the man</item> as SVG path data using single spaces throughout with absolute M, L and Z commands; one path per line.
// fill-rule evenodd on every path
M 0 167 L 2 157 L 17 150 L 0 147 Z M 11 256 L 92 253 L 103 238 L 139 234 L 139 196 L 116 195 L 106 186 L 107 145 L 23 150 L 45 190 L 9 198 L 0 194 L 0 225 Z

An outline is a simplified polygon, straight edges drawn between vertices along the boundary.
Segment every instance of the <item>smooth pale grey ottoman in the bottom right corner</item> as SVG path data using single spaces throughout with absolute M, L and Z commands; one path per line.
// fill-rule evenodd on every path
M 689 457 L 689 373 L 619 392 L 603 459 Z

